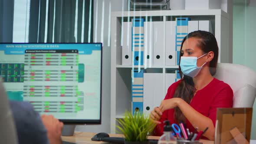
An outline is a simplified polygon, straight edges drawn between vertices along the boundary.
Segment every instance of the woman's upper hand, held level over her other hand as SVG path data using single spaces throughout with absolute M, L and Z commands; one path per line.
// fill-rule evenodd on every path
M 159 106 L 161 111 L 166 111 L 168 109 L 176 108 L 181 102 L 181 98 L 170 98 L 163 100 Z

